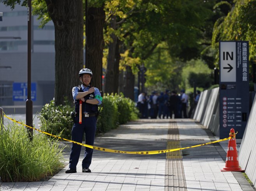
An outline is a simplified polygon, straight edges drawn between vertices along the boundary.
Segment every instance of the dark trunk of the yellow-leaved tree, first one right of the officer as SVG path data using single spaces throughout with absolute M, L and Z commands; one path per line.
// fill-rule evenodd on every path
M 110 27 L 116 30 L 116 16 L 113 15 L 110 21 Z M 109 44 L 109 54 L 107 57 L 107 71 L 105 76 L 105 91 L 106 93 L 118 92 L 118 78 L 119 78 L 119 62 L 116 62 L 116 45 L 117 36 L 110 35 L 112 42 Z

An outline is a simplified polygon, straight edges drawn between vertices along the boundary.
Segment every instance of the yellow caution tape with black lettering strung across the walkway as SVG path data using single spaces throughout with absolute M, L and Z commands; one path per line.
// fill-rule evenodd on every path
M 86 147 L 89 147 L 89 148 L 92 148 L 92 149 L 95 149 L 95 150 L 98 150 L 98 151 L 105 151 L 105 152 L 110 152 L 110 153 L 124 153 L 124 154 L 134 154 L 134 155 L 154 155 L 154 154 L 168 153 L 168 152 L 179 151 L 179 150 L 184 150 L 184 149 L 188 149 L 188 148 L 194 148 L 194 147 L 198 147 L 198 146 L 209 145 L 209 144 L 212 144 L 212 143 L 218 143 L 218 142 L 226 141 L 228 139 L 233 138 L 233 136 L 231 136 L 231 137 L 228 137 L 228 138 L 219 139 L 217 141 L 212 141 L 212 142 L 209 142 L 209 143 L 203 143 L 201 145 L 194 145 L 194 146 L 188 146 L 188 147 L 184 147 L 184 148 L 175 148 L 175 149 L 168 149 L 168 150 L 165 149 L 165 150 L 156 150 L 156 151 L 120 151 L 120 150 L 113 150 L 113 149 L 108 149 L 108 148 L 103 148 L 103 147 L 98 147 L 98 146 L 86 145 L 84 143 L 78 143 L 76 141 L 72 141 L 72 140 L 69 140 L 69 139 L 61 138 L 59 136 L 50 134 L 48 132 L 41 131 L 40 129 L 36 129 L 34 127 L 27 126 L 26 124 L 23 124 L 23 123 L 21 123 L 21 122 L 19 122 L 17 120 L 14 120 L 14 119 L 12 119 L 10 117 L 7 117 L 6 115 L 4 115 L 4 117 L 10 119 L 13 122 L 16 122 L 16 123 L 21 124 L 21 125 L 26 126 L 26 127 L 29 127 L 29 128 L 34 129 L 36 131 L 42 132 L 42 133 L 47 134 L 49 136 L 53 136 L 53 137 L 56 137 L 58 139 L 62 139 L 64 141 L 75 143 L 77 145 L 86 146 Z

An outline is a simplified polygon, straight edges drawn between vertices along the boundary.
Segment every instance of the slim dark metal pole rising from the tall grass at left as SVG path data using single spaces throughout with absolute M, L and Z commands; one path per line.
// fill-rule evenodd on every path
M 31 0 L 28 0 L 28 99 L 26 100 L 26 125 L 33 127 L 33 102 L 31 100 Z M 27 127 L 32 141 L 33 129 Z

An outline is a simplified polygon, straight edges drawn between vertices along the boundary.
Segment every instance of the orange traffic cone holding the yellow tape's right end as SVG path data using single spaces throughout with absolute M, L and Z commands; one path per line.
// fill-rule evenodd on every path
M 237 143 L 235 140 L 235 130 L 232 128 L 230 129 L 230 137 L 228 141 L 228 152 L 227 152 L 227 158 L 226 158 L 226 165 L 225 168 L 221 171 L 238 171 L 238 172 L 244 172 L 239 167 L 238 163 L 238 154 L 237 154 Z

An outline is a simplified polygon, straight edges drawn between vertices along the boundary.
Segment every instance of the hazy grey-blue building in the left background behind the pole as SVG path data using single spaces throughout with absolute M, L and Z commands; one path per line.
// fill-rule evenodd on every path
M 0 22 L 0 107 L 22 108 L 27 99 L 24 88 L 28 70 L 27 7 L 16 5 L 11 10 L 0 2 L 0 12 L 3 12 Z M 40 108 L 54 97 L 55 49 L 53 22 L 43 28 L 39 25 L 37 16 L 32 16 L 31 81 L 35 85 L 32 86 L 32 100 L 33 106 Z

